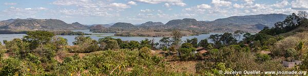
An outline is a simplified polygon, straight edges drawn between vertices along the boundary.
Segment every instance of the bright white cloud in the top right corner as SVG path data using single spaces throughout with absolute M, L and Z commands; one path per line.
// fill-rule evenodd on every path
M 292 1 L 292 9 L 308 9 L 307 0 L 295 0 Z

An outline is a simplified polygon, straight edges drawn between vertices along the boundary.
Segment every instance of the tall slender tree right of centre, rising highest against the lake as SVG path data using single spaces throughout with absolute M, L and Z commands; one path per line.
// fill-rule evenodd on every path
M 172 42 L 173 42 L 172 45 L 175 45 L 176 49 L 178 49 L 182 42 L 181 40 L 182 34 L 179 30 L 173 30 L 171 33 L 172 33 L 171 35 L 172 35 Z

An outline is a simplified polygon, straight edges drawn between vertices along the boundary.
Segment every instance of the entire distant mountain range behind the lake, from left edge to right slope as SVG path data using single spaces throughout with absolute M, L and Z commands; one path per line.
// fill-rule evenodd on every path
M 214 21 L 198 21 L 192 18 L 174 19 L 166 24 L 162 22 L 148 21 L 142 24 L 132 24 L 126 22 L 117 22 L 110 24 L 93 24 L 91 27 L 74 22 L 65 23 L 58 19 L 8 19 L 0 21 L 0 30 L 80 30 L 90 29 L 91 31 L 106 30 L 117 31 L 125 30 L 144 30 L 144 29 L 181 29 L 206 32 L 234 32 L 243 30 L 247 32 L 258 32 L 264 27 L 273 27 L 274 23 L 283 21 L 285 14 L 260 14 L 247 16 L 232 16 L 216 19 Z

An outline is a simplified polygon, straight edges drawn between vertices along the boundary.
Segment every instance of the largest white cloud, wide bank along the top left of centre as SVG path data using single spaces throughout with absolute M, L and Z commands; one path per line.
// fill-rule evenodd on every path
M 136 2 L 111 3 L 111 0 L 56 0 L 52 4 L 60 6 L 75 6 L 72 9 L 62 9 L 61 13 L 66 15 L 81 15 L 81 16 L 119 16 L 120 11 L 131 8 L 129 5 L 137 5 Z

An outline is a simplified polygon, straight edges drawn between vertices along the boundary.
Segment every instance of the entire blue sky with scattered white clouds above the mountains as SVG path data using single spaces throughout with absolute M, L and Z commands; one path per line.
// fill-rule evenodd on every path
M 308 10 L 308 0 L 2 0 L 0 20 L 61 19 L 67 23 L 144 23 L 171 19 L 215 20 L 229 16 Z

